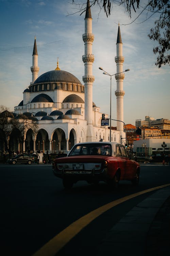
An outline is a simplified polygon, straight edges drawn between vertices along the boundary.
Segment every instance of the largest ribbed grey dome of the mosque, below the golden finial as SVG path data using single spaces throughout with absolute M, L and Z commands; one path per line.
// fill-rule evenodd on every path
M 34 82 L 34 84 L 38 83 L 50 83 L 50 82 L 60 82 L 60 83 L 75 83 L 80 84 L 81 82 L 77 77 L 72 75 L 71 73 L 63 70 L 52 70 L 48 71 L 42 75 L 40 75 Z

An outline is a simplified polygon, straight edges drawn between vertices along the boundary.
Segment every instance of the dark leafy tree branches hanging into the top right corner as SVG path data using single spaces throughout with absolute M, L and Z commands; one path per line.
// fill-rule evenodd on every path
M 81 14 L 86 11 L 86 3 L 76 3 L 72 0 L 72 4 L 77 6 L 74 13 L 80 12 Z M 140 10 L 139 15 L 133 19 L 135 22 L 143 11 L 147 12 L 147 18 L 142 21 L 145 22 L 154 14 L 159 14 L 159 18 L 155 20 L 155 27 L 151 28 L 148 37 L 150 40 L 154 40 L 158 43 L 156 47 L 153 48 L 153 53 L 157 55 L 157 61 L 155 65 L 160 68 L 162 65 L 170 63 L 170 1 L 169 0 L 147 0 L 143 3 L 142 0 L 91 0 L 90 7 L 98 5 L 100 11 L 103 9 L 106 16 L 111 15 L 115 5 L 124 5 L 125 11 L 129 13 L 129 17 L 132 18 L 132 12 L 136 12 L 136 9 Z M 99 12 L 100 13 L 100 12 Z M 80 15 L 81 15 L 80 14 Z M 131 24 L 130 23 L 130 24 Z M 126 24 L 128 25 L 128 24 Z

